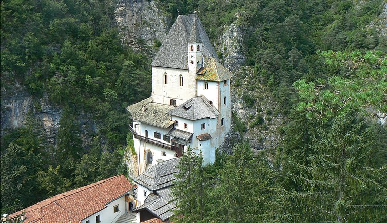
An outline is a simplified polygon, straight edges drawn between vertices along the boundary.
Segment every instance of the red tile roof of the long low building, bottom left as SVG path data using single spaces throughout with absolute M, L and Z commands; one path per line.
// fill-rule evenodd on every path
M 124 175 L 113 176 L 58 194 L 9 217 L 26 211 L 24 222 L 81 222 L 104 209 L 110 201 L 126 194 L 132 187 Z

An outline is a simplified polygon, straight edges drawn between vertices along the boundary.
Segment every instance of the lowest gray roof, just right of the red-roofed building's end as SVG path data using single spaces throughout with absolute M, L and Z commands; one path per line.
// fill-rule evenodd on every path
M 141 210 L 148 210 L 153 215 L 160 218 L 162 221 L 167 220 L 173 215 L 173 209 L 176 209 L 175 198 L 171 195 L 170 188 L 166 188 L 157 192 L 159 195 L 149 194 L 145 199 L 144 204 L 134 210 L 139 212 Z

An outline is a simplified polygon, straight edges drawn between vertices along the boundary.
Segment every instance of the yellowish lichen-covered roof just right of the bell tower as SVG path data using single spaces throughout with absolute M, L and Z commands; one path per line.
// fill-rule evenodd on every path
M 234 74 L 227 70 L 224 65 L 214 58 L 204 57 L 203 67 L 197 72 L 197 80 L 209 80 L 211 82 L 222 82 L 233 77 Z

